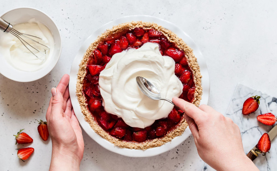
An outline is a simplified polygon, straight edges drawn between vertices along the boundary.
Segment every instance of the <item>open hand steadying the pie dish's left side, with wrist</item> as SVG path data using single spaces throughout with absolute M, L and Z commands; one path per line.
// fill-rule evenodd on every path
M 52 98 L 46 112 L 52 140 L 52 159 L 49 170 L 79 170 L 84 153 L 84 140 L 79 122 L 69 98 L 69 75 L 65 74 L 57 88 L 52 88 Z

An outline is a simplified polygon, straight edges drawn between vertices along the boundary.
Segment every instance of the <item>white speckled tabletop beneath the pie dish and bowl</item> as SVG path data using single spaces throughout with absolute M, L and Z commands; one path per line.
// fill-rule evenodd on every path
M 40 140 L 34 120 L 44 119 L 49 90 L 70 72 L 82 42 L 98 27 L 119 17 L 153 15 L 187 32 L 206 59 L 211 83 L 208 104 L 217 111 L 225 114 L 238 82 L 276 97 L 276 5 L 272 0 L 1 1 L 0 14 L 29 6 L 50 15 L 60 29 L 63 48 L 56 67 L 42 79 L 18 83 L 0 75 L 0 170 L 48 170 L 51 141 Z M 12 135 L 21 128 L 33 137 L 32 144 L 14 145 Z M 169 152 L 147 158 L 123 157 L 103 149 L 86 134 L 84 139 L 81 170 L 211 170 L 199 158 L 192 137 Z M 245 151 L 253 146 L 244 145 Z M 17 148 L 27 146 L 35 152 L 27 162 L 21 162 Z M 261 170 L 267 163 L 274 165 L 271 159 L 265 162 L 259 158 L 255 164 Z

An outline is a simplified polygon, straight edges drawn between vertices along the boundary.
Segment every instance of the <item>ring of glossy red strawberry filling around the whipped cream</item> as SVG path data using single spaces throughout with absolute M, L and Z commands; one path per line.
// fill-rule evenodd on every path
M 158 43 L 161 55 L 172 57 L 175 61 L 175 75 L 184 85 L 183 93 L 179 98 L 189 102 L 194 99 L 195 83 L 185 53 L 174 43 L 169 42 L 161 32 L 154 29 L 135 28 L 107 38 L 90 55 L 87 75 L 83 81 L 83 92 L 87 99 L 88 109 L 99 126 L 111 136 L 127 142 L 144 142 L 164 137 L 178 126 L 184 114 L 183 111 L 173 108 L 167 118 L 156 120 L 151 126 L 141 129 L 128 126 L 118 116 L 105 112 L 98 88 L 100 72 L 114 54 L 129 47 L 137 49 L 146 42 Z

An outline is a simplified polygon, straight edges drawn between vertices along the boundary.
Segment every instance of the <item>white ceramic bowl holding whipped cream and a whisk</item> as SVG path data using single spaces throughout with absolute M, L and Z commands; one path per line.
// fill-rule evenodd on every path
M 5 57 L 0 52 L 0 73 L 11 80 L 19 82 L 34 81 L 47 75 L 57 64 L 62 50 L 61 36 L 55 22 L 44 12 L 29 7 L 11 9 L 1 15 L 1 18 L 9 23 L 15 24 L 26 23 L 30 19 L 35 18 L 36 21 L 44 24 L 52 32 L 55 45 L 54 49 L 51 49 L 52 52 L 50 51 L 50 61 L 48 65 L 34 72 L 25 72 L 14 68 L 6 61 Z M 3 36 L 4 34 L 1 35 Z

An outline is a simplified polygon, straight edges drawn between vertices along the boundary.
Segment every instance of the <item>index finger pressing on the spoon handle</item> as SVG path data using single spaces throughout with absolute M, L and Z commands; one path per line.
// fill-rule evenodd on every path
M 201 122 L 202 116 L 206 115 L 204 111 L 194 106 L 194 104 L 184 101 L 183 99 L 173 97 L 172 101 L 174 104 L 179 106 L 179 108 L 181 108 L 187 116 L 191 117 L 197 125 Z

